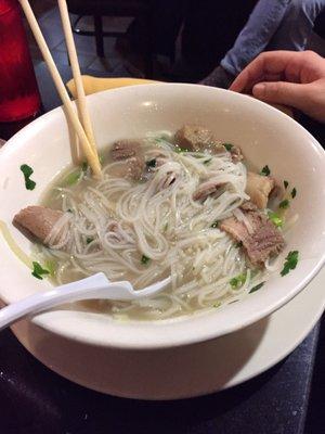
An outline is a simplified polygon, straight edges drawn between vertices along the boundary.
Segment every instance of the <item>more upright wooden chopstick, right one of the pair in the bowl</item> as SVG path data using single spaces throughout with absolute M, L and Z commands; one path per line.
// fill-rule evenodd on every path
M 82 82 L 82 78 L 81 78 L 80 66 L 79 66 L 78 56 L 77 56 L 77 50 L 76 50 L 76 46 L 75 46 L 75 39 L 73 36 L 68 8 L 66 4 L 66 0 L 57 0 L 57 3 L 58 3 L 58 9 L 60 9 L 66 47 L 67 47 L 69 60 L 70 60 L 72 69 L 73 69 L 74 80 L 76 84 L 79 117 L 80 117 L 82 127 L 84 129 L 84 132 L 88 137 L 88 140 L 89 140 L 93 151 L 96 152 L 95 138 L 94 138 L 94 133 L 93 133 L 93 129 L 92 129 L 92 125 L 91 125 L 91 120 L 90 120 L 89 111 L 87 108 L 83 82 Z

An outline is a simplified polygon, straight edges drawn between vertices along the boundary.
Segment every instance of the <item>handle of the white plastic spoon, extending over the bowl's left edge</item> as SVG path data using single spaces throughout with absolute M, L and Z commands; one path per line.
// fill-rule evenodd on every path
M 0 310 L 0 331 L 27 315 L 37 314 L 67 302 L 96 298 L 95 293 L 107 288 L 107 283 L 105 275 L 99 272 L 78 282 L 32 294 Z

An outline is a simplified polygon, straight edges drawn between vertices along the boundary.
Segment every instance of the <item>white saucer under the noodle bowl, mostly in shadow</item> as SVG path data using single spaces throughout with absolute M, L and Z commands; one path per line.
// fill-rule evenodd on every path
M 132 350 L 132 356 L 49 337 L 32 322 L 22 321 L 13 330 L 44 365 L 89 388 L 138 399 L 190 398 L 243 383 L 287 356 L 320 319 L 324 284 L 325 269 L 290 303 L 246 329 L 179 348 Z

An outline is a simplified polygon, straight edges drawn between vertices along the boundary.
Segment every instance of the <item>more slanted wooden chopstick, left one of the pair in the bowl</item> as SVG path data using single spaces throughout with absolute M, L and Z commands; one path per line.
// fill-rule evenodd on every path
M 50 71 L 50 74 L 52 76 L 52 79 L 54 81 L 54 85 L 56 87 L 56 90 L 60 94 L 60 98 L 63 102 L 63 105 L 66 110 L 66 114 L 78 136 L 78 139 L 80 140 L 81 146 L 82 146 L 82 151 L 83 154 L 89 163 L 89 166 L 91 167 L 93 175 L 96 177 L 101 176 L 101 164 L 100 164 L 100 159 L 99 159 L 99 155 L 96 152 L 94 152 L 94 150 L 92 149 L 88 137 L 82 128 L 82 125 L 80 124 L 80 120 L 77 116 L 77 113 L 74 108 L 74 104 L 69 99 L 69 95 L 66 91 L 66 88 L 62 81 L 62 78 L 60 76 L 60 73 L 55 66 L 55 63 L 53 61 L 53 58 L 51 55 L 51 52 L 48 48 L 48 44 L 44 40 L 44 37 L 41 33 L 41 29 L 39 28 L 39 25 L 37 23 L 37 20 L 34 15 L 34 12 L 30 8 L 30 4 L 28 2 L 28 0 L 20 0 L 20 3 L 23 8 L 23 11 L 26 15 L 26 18 L 28 21 L 28 24 L 30 26 L 30 29 L 34 34 L 34 37 L 38 43 L 38 47 L 42 53 L 42 56 L 48 65 L 48 68 Z

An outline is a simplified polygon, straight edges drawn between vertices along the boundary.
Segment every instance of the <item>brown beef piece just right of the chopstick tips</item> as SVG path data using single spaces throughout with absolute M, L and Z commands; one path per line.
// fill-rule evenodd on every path
M 136 140 L 119 140 L 112 149 L 114 161 L 126 162 L 127 178 L 140 180 L 145 169 L 144 156 L 141 151 L 141 142 Z

